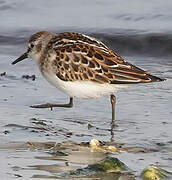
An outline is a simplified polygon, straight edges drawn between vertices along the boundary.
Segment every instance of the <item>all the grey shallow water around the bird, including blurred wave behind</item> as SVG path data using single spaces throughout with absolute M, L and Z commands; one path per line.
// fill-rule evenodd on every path
M 42 78 L 33 61 L 11 65 L 24 52 L 28 37 L 39 30 L 77 31 L 95 36 L 127 61 L 167 79 L 131 86 L 116 94 L 118 126 L 113 139 L 126 146 L 156 150 L 115 155 L 136 174 L 153 163 L 172 171 L 171 6 L 170 0 L 0 1 L 0 74 L 6 72 L 0 76 L 0 147 L 9 145 L 0 150 L 2 179 L 12 179 L 16 174 L 25 179 L 35 174 L 53 176 L 44 169 L 39 173 L 27 169 L 62 163 L 35 158 L 46 156 L 44 149 L 32 151 L 12 142 L 82 142 L 92 138 L 107 142 L 112 138 L 109 97 L 75 99 L 72 109 L 29 108 L 45 102 L 68 102 L 67 96 Z M 36 75 L 36 79 L 25 79 L 23 75 Z M 88 124 L 93 127 L 88 129 Z

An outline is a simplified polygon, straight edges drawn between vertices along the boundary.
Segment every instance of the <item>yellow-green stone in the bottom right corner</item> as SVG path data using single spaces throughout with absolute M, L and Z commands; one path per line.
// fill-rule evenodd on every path
M 161 180 L 170 176 L 172 176 L 171 172 L 168 172 L 155 165 L 148 166 L 141 173 L 143 180 Z

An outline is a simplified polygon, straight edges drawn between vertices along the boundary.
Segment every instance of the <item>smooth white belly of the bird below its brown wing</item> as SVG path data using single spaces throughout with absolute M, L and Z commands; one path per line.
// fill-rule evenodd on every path
M 66 93 L 70 97 L 77 98 L 98 98 L 117 92 L 120 89 L 128 87 L 119 84 L 99 84 L 90 81 L 62 81 L 54 73 L 44 72 L 43 76 L 53 86 Z

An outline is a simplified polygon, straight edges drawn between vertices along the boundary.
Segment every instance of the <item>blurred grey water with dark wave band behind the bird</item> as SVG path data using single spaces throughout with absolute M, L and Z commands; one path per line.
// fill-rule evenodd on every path
M 169 55 L 171 6 L 170 0 L 1 0 L 1 45 L 20 44 L 40 30 L 77 31 L 115 44 L 122 53 Z

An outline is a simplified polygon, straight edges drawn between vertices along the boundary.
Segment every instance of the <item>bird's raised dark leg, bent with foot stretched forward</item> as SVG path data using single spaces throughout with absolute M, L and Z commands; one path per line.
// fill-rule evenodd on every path
M 68 104 L 40 104 L 40 105 L 33 105 L 33 106 L 30 106 L 31 108 L 52 108 L 53 107 L 65 107 L 65 108 L 71 108 L 73 107 L 73 98 L 70 97 L 70 101 Z

